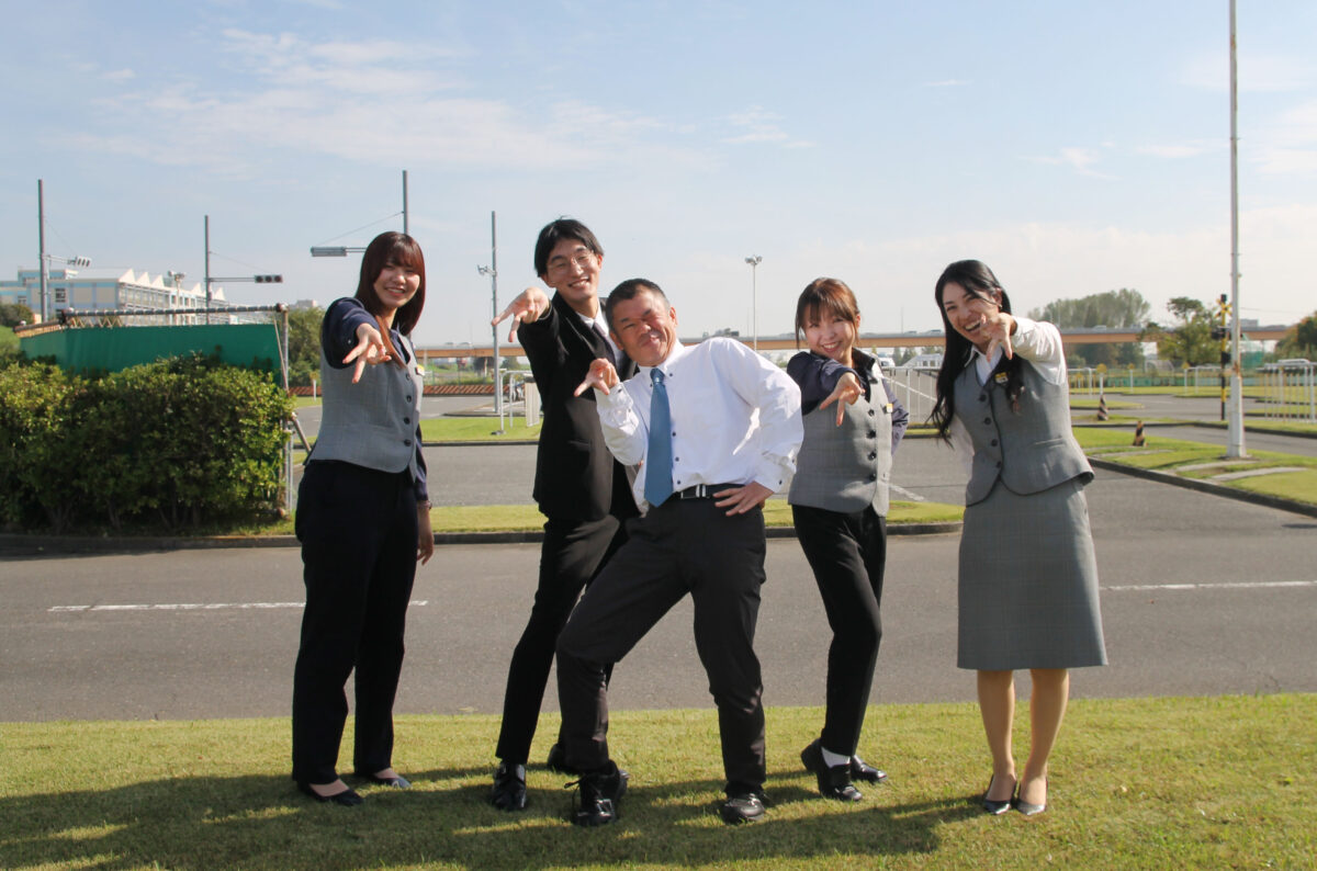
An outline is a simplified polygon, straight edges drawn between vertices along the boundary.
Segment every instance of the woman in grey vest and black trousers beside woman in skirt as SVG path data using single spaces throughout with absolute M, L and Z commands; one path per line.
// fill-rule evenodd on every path
M 795 338 L 809 345 L 786 364 L 801 388 L 805 441 L 788 501 L 832 628 L 822 734 L 801 762 L 819 792 L 859 801 L 855 780 L 886 774 L 855 755 L 882 641 L 878 605 L 888 551 L 888 479 L 909 413 L 874 359 L 855 346 L 860 309 L 832 278 L 810 283 L 795 305 Z

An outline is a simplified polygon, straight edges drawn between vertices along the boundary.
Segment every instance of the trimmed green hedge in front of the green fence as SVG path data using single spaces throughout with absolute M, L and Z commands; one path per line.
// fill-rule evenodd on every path
M 79 382 L 26 364 L 0 370 L 0 391 L 8 525 L 178 530 L 279 504 L 291 400 L 269 374 L 194 357 Z

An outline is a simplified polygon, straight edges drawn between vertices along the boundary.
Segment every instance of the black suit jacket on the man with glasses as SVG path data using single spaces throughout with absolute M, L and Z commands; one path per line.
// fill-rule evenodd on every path
M 594 407 L 594 391 L 573 396 L 593 363 L 607 357 L 602 337 L 557 293 L 537 321 L 516 330 L 531 361 L 540 389 L 544 425 L 535 462 L 535 501 L 547 517 L 602 520 L 612 513 L 633 517 L 631 495 L 633 470 L 624 468 L 608 453 Z M 635 375 L 636 364 L 623 355 L 618 375 Z

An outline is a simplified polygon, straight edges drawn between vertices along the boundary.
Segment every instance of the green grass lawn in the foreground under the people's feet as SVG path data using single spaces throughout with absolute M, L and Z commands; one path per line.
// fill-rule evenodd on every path
M 769 708 L 765 788 L 774 804 L 765 821 L 730 828 L 716 816 L 716 714 L 614 712 L 612 751 L 631 772 L 631 789 L 622 818 L 597 830 L 565 821 L 570 778 L 540 766 L 529 771 L 527 812 L 485 803 L 493 716 L 399 717 L 394 763 L 415 787 L 363 788 L 360 808 L 295 792 L 286 718 L 0 724 L 0 866 L 1160 871 L 1317 863 L 1317 695 L 1076 700 L 1052 757 L 1050 809 L 1034 818 L 979 809 L 990 766 L 973 704 L 872 707 L 861 755 L 890 780 L 865 785 L 856 804 L 819 797 L 799 764 L 820 721 L 818 708 Z M 1019 749 L 1027 722 L 1021 712 Z M 556 730 L 557 717 L 545 714 L 532 759 L 544 759 Z M 350 741 L 349 722 L 349 757 Z

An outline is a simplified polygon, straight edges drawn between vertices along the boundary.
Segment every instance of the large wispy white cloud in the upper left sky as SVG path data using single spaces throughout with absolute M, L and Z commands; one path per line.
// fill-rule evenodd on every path
M 456 75 L 420 63 L 458 51 L 417 54 L 412 43 L 389 39 L 309 43 L 245 30 L 224 37 L 227 50 L 244 61 L 246 87 L 175 82 L 120 93 L 99 104 L 104 125 L 66 141 L 236 175 L 266 159 L 271 147 L 377 164 L 518 171 L 709 163 L 657 118 L 582 101 L 527 109 L 466 95 Z M 677 145 L 657 133 L 673 134 Z

